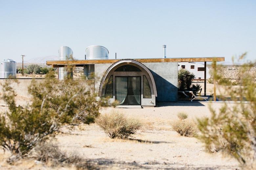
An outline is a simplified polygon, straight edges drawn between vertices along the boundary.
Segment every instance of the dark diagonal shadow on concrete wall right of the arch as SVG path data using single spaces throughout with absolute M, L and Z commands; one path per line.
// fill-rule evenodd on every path
M 172 83 L 159 76 L 154 71 L 150 70 L 154 76 L 157 87 L 157 102 L 177 102 L 178 100 L 178 88 Z M 177 80 L 178 81 L 178 80 Z

